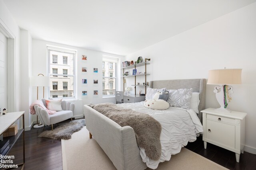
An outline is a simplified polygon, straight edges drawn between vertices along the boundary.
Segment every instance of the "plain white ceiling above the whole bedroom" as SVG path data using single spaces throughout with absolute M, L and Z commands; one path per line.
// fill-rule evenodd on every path
M 4 0 L 41 39 L 128 55 L 256 0 Z

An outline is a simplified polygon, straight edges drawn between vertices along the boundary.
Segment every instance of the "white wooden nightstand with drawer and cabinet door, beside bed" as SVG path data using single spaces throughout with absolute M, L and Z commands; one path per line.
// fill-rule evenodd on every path
M 240 153 L 244 153 L 245 117 L 247 113 L 232 111 L 230 113 L 208 108 L 203 113 L 204 149 L 207 142 L 236 153 L 239 162 Z

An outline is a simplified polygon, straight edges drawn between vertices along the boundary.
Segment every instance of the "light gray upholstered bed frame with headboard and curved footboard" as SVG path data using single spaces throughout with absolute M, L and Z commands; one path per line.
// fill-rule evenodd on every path
M 199 113 L 196 114 L 199 120 L 202 122 L 202 113 L 200 111 L 205 107 L 205 92 L 206 92 L 206 79 L 185 79 L 185 80 L 157 80 L 150 82 L 150 88 L 166 88 L 166 89 L 193 89 L 193 92 L 199 93 L 200 103 L 198 105 Z M 143 102 L 135 104 L 118 104 L 122 107 L 134 107 L 138 111 L 143 112 Z M 175 109 L 175 108 L 170 108 Z M 182 110 L 182 109 L 180 109 Z M 145 112 L 145 111 L 144 111 Z M 116 122 L 112 121 L 105 115 L 94 110 L 92 107 L 85 105 L 84 113 L 86 119 L 86 128 L 90 132 L 90 138 L 92 136 L 108 155 L 114 166 L 118 170 L 144 170 L 147 167 L 155 169 L 158 166 L 158 162 L 150 162 L 146 155 L 143 156 L 143 149 L 140 149 L 136 143 L 136 137 L 134 129 L 130 126 L 121 127 Z M 160 113 L 160 112 L 159 112 Z M 161 119 L 158 113 L 151 111 L 151 115 L 156 115 L 156 119 Z M 183 113 L 182 113 L 183 114 Z M 162 125 L 163 126 L 163 125 Z M 196 126 L 196 125 L 195 125 Z M 197 132 L 199 135 L 202 131 Z M 162 135 L 162 133 L 161 133 Z M 172 154 L 176 154 L 180 151 L 180 147 L 186 145 L 188 141 L 194 141 L 195 136 L 191 139 L 182 139 L 182 143 L 178 144 L 176 149 L 172 150 Z M 178 143 L 178 142 L 177 142 Z M 162 141 L 161 141 L 162 144 Z M 163 145 L 163 144 L 162 144 Z M 174 143 L 176 145 L 176 143 Z M 164 146 L 164 145 L 163 145 Z M 162 152 L 163 153 L 163 152 Z M 170 157 L 170 154 L 167 155 Z M 168 160 L 168 159 L 167 159 Z M 144 161 L 144 162 L 143 162 Z M 145 163 L 146 162 L 146 163 Z

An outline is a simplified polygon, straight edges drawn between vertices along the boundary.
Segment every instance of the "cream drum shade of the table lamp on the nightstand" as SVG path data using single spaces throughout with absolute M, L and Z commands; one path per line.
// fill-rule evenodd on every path
M 242 84 L 241 74 L 241 68 L 209 70 L 207 84 Z

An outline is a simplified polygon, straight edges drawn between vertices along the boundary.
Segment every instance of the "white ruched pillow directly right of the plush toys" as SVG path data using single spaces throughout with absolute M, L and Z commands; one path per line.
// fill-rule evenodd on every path
M 170 104 L 170 106 L 173 107 L 181 107 L 184 109 L 190 108 L 190 99 L 192 96 L 192 88 L 182 88 L 178 90 L 168 90 L 168 100 L 167 102 Z

